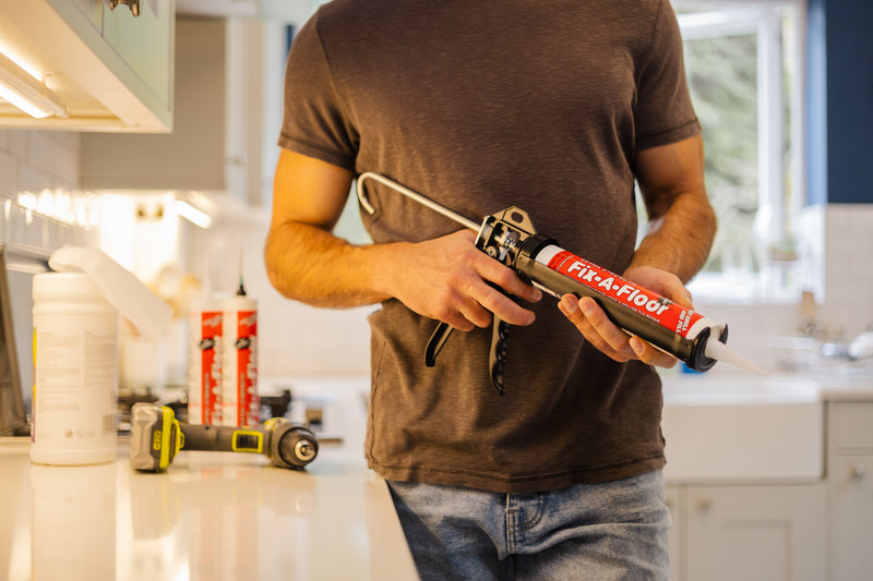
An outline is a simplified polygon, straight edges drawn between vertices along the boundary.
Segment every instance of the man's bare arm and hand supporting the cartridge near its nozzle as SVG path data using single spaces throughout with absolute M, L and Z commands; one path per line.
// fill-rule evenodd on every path
M 703 159 L 699 135 L 637 154 L 635 170 L 649 227 L 623 274 L 689 307 L 691 293 L 684 285 L 703 267 L 716 232 Z M 567 295 L 559 306 L 591 344 L 615 361 L 638 359 L 663 367 L 677 362 L 649 343 L 630 338 L 591 299 Z

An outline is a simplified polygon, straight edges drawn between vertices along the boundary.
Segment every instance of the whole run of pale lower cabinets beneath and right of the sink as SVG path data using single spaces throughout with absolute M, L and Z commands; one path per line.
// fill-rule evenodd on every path
M 673 581 L 873 581 L 873 401 L 826 403 L 823 481 L 669 483 Z

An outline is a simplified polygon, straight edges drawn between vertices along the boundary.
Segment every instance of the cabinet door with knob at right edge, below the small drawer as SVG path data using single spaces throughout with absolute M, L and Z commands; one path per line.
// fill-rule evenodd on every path
M 830 468 L 832 579 L 873 579 L 873 456 L 842 456 Z

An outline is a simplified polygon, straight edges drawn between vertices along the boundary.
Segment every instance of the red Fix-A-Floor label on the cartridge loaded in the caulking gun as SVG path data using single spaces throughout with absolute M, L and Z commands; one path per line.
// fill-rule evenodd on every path
M 606 268 L 561 251 L 549 261 L 549 268 L 584 285 L 598 294 L 622 304 L 646 318 L 657 322 L 682 337 L 703 315 L 680 306 Z

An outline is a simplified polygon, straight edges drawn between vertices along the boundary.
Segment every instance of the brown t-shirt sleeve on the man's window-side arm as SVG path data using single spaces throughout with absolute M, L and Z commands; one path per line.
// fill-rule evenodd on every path
M 661 0 L 637 81 L 637 149 L 674 143 L 701 131 L 682 50 L 675 12 L 668 0 Z

